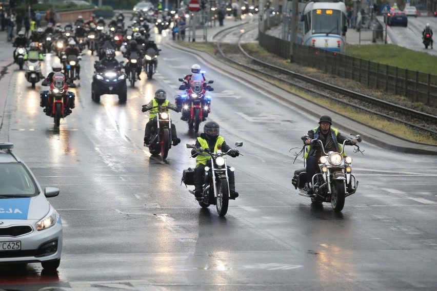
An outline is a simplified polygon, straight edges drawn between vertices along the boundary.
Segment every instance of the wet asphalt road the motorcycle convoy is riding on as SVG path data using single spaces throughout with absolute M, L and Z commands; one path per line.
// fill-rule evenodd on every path
M 165 36 L 165 35 L 164 35 Z M 7 67 L 0 88 L 7 102 L 2 142 L 32 169 L 42 186 L 61 189 L 49 201 L 61 214 L 64 245 L 57 273 L 41 265 L 0 266 L 0 288 L 35 290 L 431 290 L 437 267 L 437 158 L 360 144 L 354 158 L 360 181 L 341 213 L 311 205 L 291 185 L 300 137 L 317 120 L 254 90 L 193 54 L 162 48 L 158 73 L 116 95 L 91 100 L 95 56 L 81 62 L 76 108 L 53 127 L 39 107 L 39 91 L 24 72 Z M 0 44 L 2 66 L 10 44 Z M 118 59 L 122 59 L 117 55 Z M 47 56 L 46 66 L 54 60 Z M 171 113 L 180 145 L 168 159 L 143 147 L 148 103 L 158 88 L 174 101 L 178 78 L 198 63 L 213 79 L 212 109 L 228 144 L 243 141 L 236 168 L 240 197 L 226 217 L 203 210 L 181 185 L 192 167 L 188 131 Z M 44 73 L 49 72 L 48 67 Z M 323 115 L 324 112 L 320 112 Z M 335 126 L 335 120 L 334 126 Z M 201 127 L 203 123 L 201 124 Z M 359 132 L 345 135 L 355 135 Z M 302 156 L 301 156 L 302 157 Z M 54 288 L 52 288 L 54 289 Z

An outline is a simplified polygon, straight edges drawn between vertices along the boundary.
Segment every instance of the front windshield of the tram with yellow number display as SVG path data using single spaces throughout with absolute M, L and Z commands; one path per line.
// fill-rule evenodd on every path
M 341 35 L 341 11 L 315 9 L 312 11 L 312 34 L 328 33 Z

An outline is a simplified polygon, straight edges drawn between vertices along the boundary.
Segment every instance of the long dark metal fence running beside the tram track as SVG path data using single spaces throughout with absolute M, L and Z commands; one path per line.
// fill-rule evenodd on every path
M 259 44 L 265 50 L 290 58 L 294 63 L 317 68 L 327 73 L 352 79 L 369 88 L 407 97 L 413 102 L 437 106 L 437 75 L 410 71 L 290 41 L 268 35 L 259 30 Z

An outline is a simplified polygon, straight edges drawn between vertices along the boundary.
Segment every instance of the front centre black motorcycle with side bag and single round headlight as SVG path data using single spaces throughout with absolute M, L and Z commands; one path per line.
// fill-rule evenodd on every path
M 197 152 L 208 154 L 211 157 L 212 167 L 205 167 L 202 200 L 199 200 L 198 203 L 202 208 L 207 208 L 211 204 L 215 205 L 220 216 L 226 215 L 229 205 L 229 178 L 226 155 L 232 151 L 237 151 L 237 147 L 243 147 L 243 142 L 235 142 L 235 149 L 230 149 L 226 153 L 221 150 L 211 153 L 209 149 L 196 148 L 194 144 L 187 144 L 188 149 L 196 149 Z M 243 154 L 240 155 L 243 156 Z M 229 170 L 234 171 L 234 168 L 230 167 Z M 194 185 L 194 169 L 184 170 L 182 181 L 186 185 Z M 194 191 L 189 190 L 189 192 L 194 195 Z

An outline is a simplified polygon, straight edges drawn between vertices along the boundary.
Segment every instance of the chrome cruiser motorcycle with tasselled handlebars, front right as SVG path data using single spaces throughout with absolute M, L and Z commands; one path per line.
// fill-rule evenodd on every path
M 308 135 L 302 136 L 304 141 L 308 138 Z M 330 202 L 335 212 L 343 210 L 345 198 L 354 194 L 358 188 L 358 181 L 352 174 L 352 157 L 344 156 L 345 146 L 355 146 L 357 148 L 355 152 L 362 153 L 360 147 L 352 143 L 354 139 L 361 142 L 360 135 L 346 139 L 340 153 L 326 153 L 321 140 L 311 139 L 310 144 L 312 146 L 317 144 L 319 146 L 317 149 L 322 149 L 323 154 L 318 162 L 318 171 L 311 177 L 311 185 L 307 185 L 306 168 L 294 171 L 291 183 L 295 189 L 299 188 L 299 195 L 311 198 L 312 203 Z M 308 193 L 310 190 L 313 194 Z

